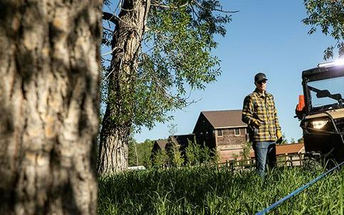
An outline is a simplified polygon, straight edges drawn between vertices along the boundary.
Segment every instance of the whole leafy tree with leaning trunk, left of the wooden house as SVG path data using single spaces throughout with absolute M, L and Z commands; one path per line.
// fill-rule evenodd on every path
M 111 42 L 103 40 L 111 44 L 112 60 L 99 175 L 127 168 L 131 131 L 170 119 L 168 111 L 188 104 L 189 89 L 204 89 L 220 75 L 210 51 L 217 45 L 214 35 L 225 35 L 225 13 L 232 13 L 214 0 L 123 0 L 117 8 L 118 15 L 104 13 L 115 28 L 104 33 Z

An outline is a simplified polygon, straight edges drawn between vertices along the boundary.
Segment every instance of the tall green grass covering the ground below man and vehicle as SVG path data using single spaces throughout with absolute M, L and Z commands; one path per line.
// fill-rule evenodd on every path
M 98 214 L 254 214 L 306 184 L 321 170 L 215 167 L 122 172 L 99 180 Z M 343 214 L 344 171 L 284 202 L 272 214 Z

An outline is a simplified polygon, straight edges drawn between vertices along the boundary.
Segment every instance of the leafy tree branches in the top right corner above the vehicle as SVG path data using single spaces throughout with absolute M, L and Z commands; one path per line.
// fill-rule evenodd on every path
M 324 51 L 324 60 L 333 57 L 333 49 L 338 48 L 340 57 L 344 56 L 344 0 L 303 0 L 307 18 L 303 23 L 311 26 L 308 34 L 316 32 L 317 28 L 332 36 L 336 43 Z

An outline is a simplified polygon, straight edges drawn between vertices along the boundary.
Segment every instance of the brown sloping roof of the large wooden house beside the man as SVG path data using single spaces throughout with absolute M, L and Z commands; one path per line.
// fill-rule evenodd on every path
M 247 126 L 241 120 L 242 110 L 202 111 L 214 128 Z

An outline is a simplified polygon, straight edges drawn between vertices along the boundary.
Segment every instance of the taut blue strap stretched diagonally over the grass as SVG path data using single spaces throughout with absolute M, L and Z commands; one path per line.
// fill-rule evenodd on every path
M 316 177 L 315 179 L 311 180 L 311 182 L 308 182 L 307 184 L 303 185 L 302 187 L 300 187 L 299 189 L 295 189 L 293 192 L 291 192 L 290 194 L 286 195 L 285 197 L 283 197 L 282 199 L 279 199 L 279 201 L 275 202 L 274 204 L 268 206 L 266 209 L 257 212 L 255 215 L 262 215 L 262 214 L 266 214 L 267 212 L 271 211 L 272 209 L 274 209 L 276 206 L 279 206 L 279 204 L 281 204 L 282 202 L 290 199 L 291 197 L 294 197 L 296 194 L 299 194 L 299 192 L 302 192 L 303 190 L 307 189 L 308 187 L 311 187 L 311 185 L 313 185 L 314 183 L 318 182 L 318 180 L 321 180 L 323 177 L 325 177 L 326 175 L 328 175 L 330 172 L 332 172 L 333 170 L 337 169 L 338 167 L 340 167 L 341 165 L 344 164 L 343 162 L 340 162 L 340 164 L 336 165 L 335 167 L 333 167 L 332 169 L 328 170 L 327 172 L 319 175 L 318 177 Z

